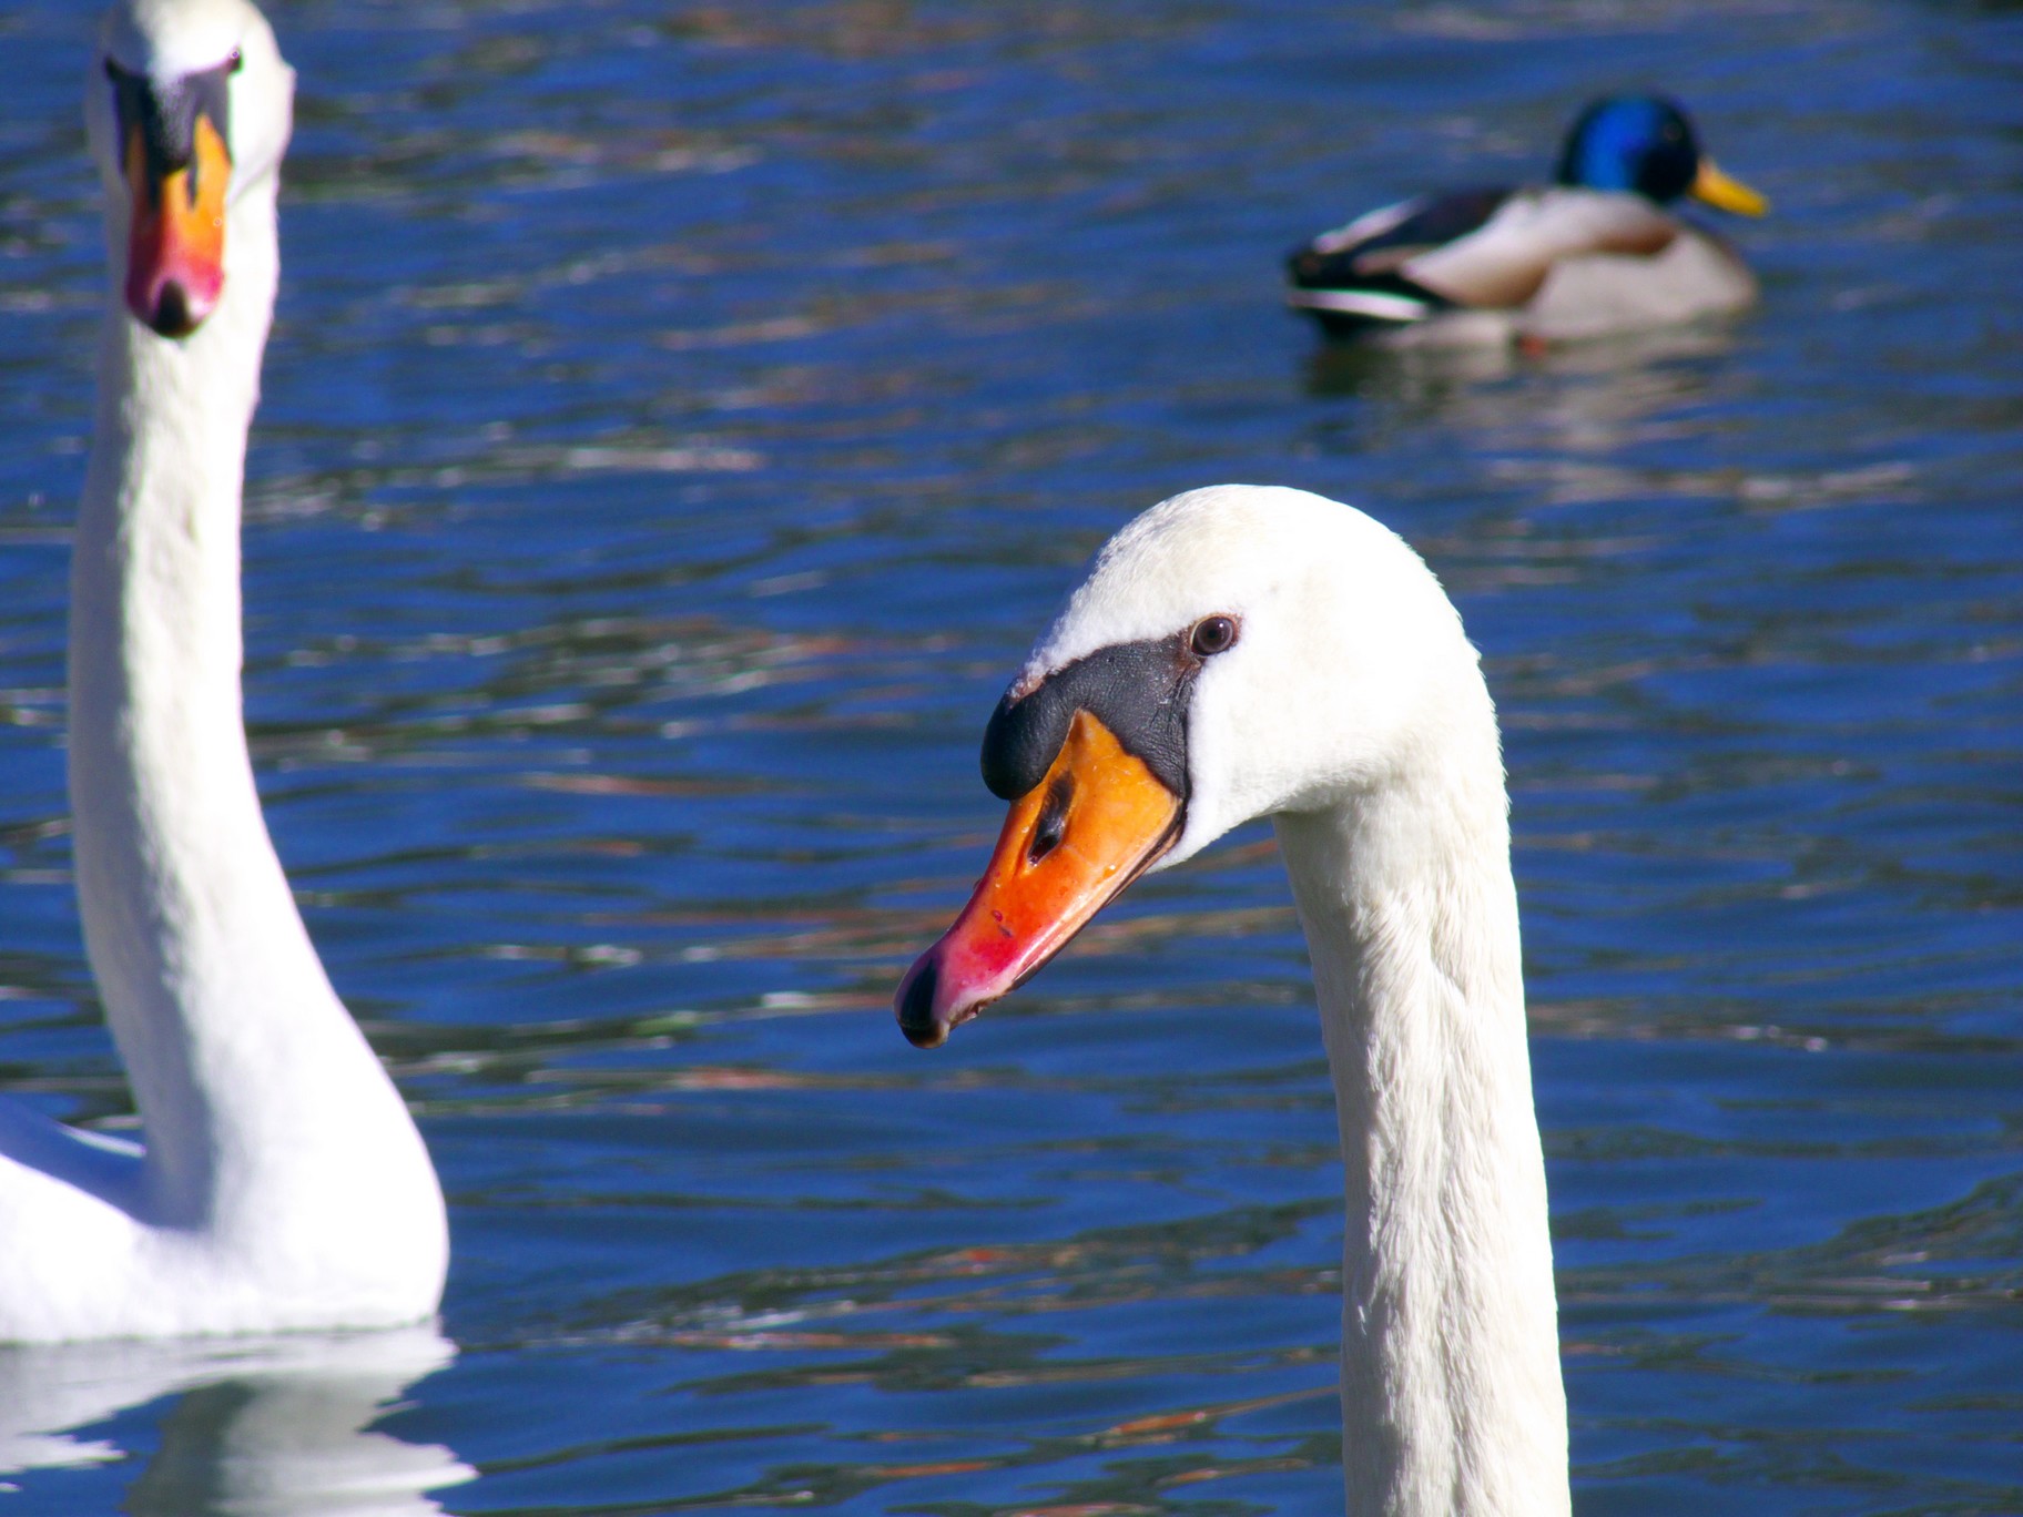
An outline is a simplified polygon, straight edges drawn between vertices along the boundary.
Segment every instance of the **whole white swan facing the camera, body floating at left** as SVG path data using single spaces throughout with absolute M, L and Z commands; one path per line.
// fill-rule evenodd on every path
M 125 0 L 91 65 L 113 277 L 71 811 L 146 1147 L 0 1102 L 0 1341 L 382 1327 L 441 1299 L 435 1169 L 310 945 L 241 718 L 239 496 L 291 97 L 245 0 Z

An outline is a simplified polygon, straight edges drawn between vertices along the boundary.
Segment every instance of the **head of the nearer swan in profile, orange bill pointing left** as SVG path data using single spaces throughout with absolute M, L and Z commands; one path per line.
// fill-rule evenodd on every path
M 1244 821 L 1355 805 L 1457 752 L 1501 797 L 1479 657 L 1400 536 L 1303 489 L 1175 496 L 1096 554 L 991 714 L 983 779 L 1012 813 L 900 983 L 900 1030 L 939 1046 Z

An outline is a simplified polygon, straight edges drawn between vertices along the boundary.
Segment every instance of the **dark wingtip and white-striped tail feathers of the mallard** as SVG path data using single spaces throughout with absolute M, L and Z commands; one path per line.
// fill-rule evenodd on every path
M 1408 265 L 1479 233 L 1511 194 L 1505 186 L 1420 194 L 1321 233 L 1287 259 L 1287 301 L 1372 322 L 1432 316 L 1455 301 L 1414 279 Z

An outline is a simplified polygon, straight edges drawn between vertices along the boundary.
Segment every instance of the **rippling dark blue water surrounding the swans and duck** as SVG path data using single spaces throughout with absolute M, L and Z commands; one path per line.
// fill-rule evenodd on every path
M 10 1511 L 1333 1509 L 1268 833 L 939 1054 L 888 1011 L 1001 682 L 1220 479 L 1370 506 L 1487 653 L 1580 1511 L 2023 1511 L 2023 12 L 271 14 L 249 712 L 455 1357 L 0 1355 Z M 117 1123 L 61 775 L 87 32 L 0 16 L 0 1076 Z M 1299 237 L 1637 83 L 1776 202 L 1758 314 L 1432 364 L 1277 307 Z

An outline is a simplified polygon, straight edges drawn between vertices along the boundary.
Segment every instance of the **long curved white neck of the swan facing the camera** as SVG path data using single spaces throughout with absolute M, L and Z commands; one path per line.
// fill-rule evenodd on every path
M 71 809 L 85 947 L 148 1137 L 150 1222 L 289 1236 L 441 1199 L 267 837 L 241 716 L 239 500 L 273 311 L 273 180 L 180 342 L 119 299 L 71 560 Z M 293 1236 L 307 1236 L 310 1224 Z

